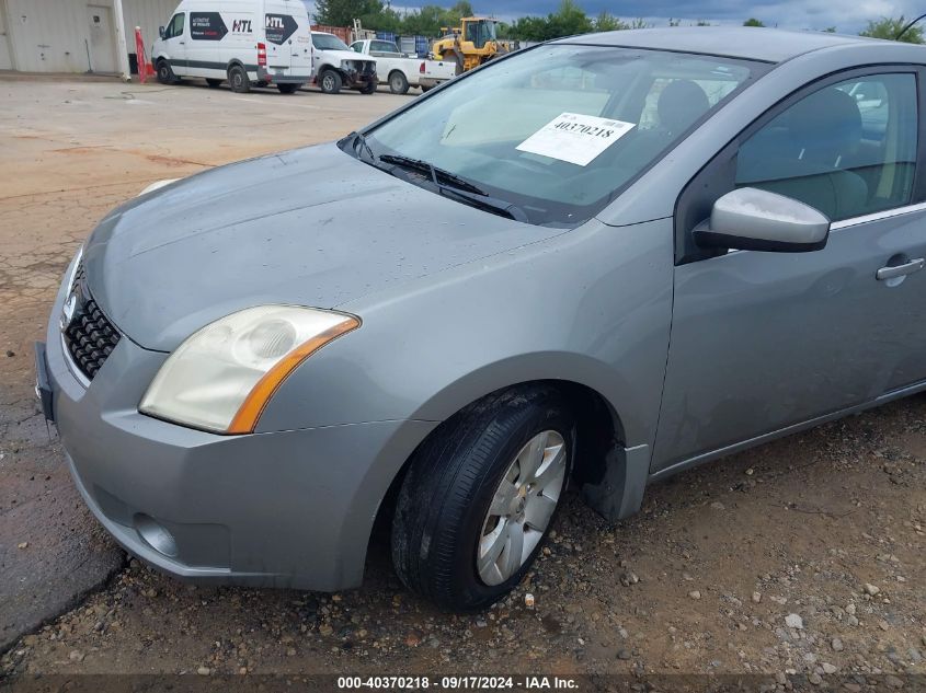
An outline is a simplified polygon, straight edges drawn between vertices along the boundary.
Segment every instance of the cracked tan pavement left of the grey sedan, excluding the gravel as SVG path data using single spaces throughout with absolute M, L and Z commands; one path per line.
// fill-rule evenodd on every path
M 335 139 L 412 97 L 0 81 L 0 650 L 124 564 L 32 393 L 32 344 L 78 245 L 153 181 Z

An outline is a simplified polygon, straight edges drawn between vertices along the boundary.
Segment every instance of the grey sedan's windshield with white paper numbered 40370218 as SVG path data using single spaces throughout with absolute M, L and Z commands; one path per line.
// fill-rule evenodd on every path
M 656 50 L 541 46 L 451 82 L 366 132 L 366 143 L 374 157 L 415 159 L 465 178 L 530 223 L 572 227 L 763 69 Z M 409 180 L 427 186 L 427 176 Z

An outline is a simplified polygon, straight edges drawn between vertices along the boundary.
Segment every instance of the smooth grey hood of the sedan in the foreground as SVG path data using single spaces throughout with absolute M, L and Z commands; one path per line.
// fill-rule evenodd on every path
M 170 351 L 243 308 L 334 308 L 561 232 L 467 207 L 324 145 L 129 201 L 93 232 L 84 267 L 124 334 Z

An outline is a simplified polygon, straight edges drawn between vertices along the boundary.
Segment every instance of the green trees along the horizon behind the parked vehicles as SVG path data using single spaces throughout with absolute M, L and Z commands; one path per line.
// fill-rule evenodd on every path
M 459 26 L 460 18 L 473 16 L 469 0 L 458 0 L 450 8 L 426 4 L 416 10 L 396 10 L 388 0 L 317 0 L 315 20 L 319 24 L 330 26 L 351 26 L 355 19 L 361 20 L 364 28 L 379 32 L 393 32 L 402 35 L 422 35 L 437 37 L 445 27 Z M 691 26 L 710 26 L 708 20 L 684 21 Z M 670 19 L 670 26 L 681 26 L 683 20 Z M 744 26 L 767 26 L 759 19 L 750 18 L 743 22 Z M 872 38 L 895 38 L 906 20 L 900 18 L 881 18 L 871 20 L 868 26 L 859 32 L 860 36 Z M 501 22 L 499 34 L 504 38 L 517 41 L 550 41 L 561 36 L 587 34 L 591 32 L 613 32 L 625 28 L 648 28 L 652 24 L 643 19 L 622 20 L 609 12 L 602 12 L 596 16 L 588 16 L 575 0 L 561 0 L 556 12 L 546 16 L 522 16 L 511 23 Z M 770 24 L 775 26 L 775 24 Z M 835 26 L 820 31 L 836 32 Z M 901 41 L 912 44 L 924 43 L 923 28 L 919 25 L 908 30 Z

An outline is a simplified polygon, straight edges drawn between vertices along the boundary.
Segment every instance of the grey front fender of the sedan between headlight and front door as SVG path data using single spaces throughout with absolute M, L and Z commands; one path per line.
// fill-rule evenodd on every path
M 672 314 L 671 219 L 595 220 L 339 305 L 363 326 L 281 386 L 259 431 L 445 420 L 527 380 L 602 394 L 628 447 L 652 444 Z

